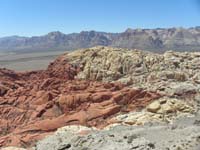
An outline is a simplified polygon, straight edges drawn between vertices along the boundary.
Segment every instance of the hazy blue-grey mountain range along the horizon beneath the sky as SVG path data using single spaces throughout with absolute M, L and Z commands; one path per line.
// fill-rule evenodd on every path
M 44 36 L 0 38 L 0 51 L 74 50 L 92 46 L 112 46 L 162 52 L 200 51 L 200 26 L 193 28 L 127 29 L 122 33 L 59 31 Z

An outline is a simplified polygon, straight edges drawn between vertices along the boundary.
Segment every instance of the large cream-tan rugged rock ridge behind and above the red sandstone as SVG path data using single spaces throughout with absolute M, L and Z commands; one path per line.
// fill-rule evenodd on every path
M 81 49 L 61 56 L 72 66 L 81 66 L 78 79 L 119 81 L 168 94 L 166 84 L 199 84 L 199 52 L 164 54 L 111 47 Z M 170 87 L 169 87 L 170 88 Z

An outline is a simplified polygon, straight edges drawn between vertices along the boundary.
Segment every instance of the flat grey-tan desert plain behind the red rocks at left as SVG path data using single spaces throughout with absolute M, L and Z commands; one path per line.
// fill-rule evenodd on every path
M 66 51 L 50 52 L 0 52 L 0 68 L 15 71 L 32 71 L 46 69 L 48 64 Z

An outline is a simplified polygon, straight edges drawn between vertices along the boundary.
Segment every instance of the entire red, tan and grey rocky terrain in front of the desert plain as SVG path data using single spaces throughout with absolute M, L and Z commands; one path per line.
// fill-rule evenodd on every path
M 1 69 L 0 147 L 198 150 L 199 60 L 93 47 L 43 71 Z

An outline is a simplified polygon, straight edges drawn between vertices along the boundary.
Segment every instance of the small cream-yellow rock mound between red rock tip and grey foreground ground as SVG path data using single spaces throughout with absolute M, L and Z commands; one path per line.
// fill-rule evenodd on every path
M 148 122 L 167 122 L 183 116 L 193 116 L 195 109 L 182 100 L 163 97 L 150 103 L 146 109 L 115 117 L 120 124 L 144 125 Z

